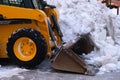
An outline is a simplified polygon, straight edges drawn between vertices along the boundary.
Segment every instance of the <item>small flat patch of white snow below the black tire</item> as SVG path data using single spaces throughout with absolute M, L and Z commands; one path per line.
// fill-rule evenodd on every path
M 18 75 L 21 72 L 28 71 L 26 69 L 21 69 L 13 66 L 1 67 L 0 68 L 0 78 L 12 77 L 13 75 Z

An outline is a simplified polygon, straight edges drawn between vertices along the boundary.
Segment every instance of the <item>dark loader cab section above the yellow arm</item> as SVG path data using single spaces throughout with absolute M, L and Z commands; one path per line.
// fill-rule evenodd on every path
M 42 0 L 43 1 L 43 0 Z M 0 4 L 22 8 L 41 9 L 40 0 L 0 0 Z

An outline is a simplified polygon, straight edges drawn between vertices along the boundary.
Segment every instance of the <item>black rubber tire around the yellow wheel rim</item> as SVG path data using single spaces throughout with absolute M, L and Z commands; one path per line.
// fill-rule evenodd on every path
M 23 37 L 30 38 L 36 44 L 36 53 L 35 56 L 29 61 L 23 61 L 18 59 L 14 53 L 14 45 L 15 42 Z M 47 45 L 44 37 L 36 30 L 30 28 L 24 28 L 16 31 L 11 37 L 8 39 L 7 43 L 7 54 L 9 58 L 20 67 L 25 68 L 34 68 L 39 65 L 46 56 L 47 53 Z

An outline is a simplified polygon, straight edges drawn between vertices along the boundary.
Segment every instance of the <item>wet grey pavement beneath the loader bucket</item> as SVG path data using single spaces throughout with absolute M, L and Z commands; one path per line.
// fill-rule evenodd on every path
M 56 71 L 50 65 L 50 61 L 46 60 L 36 69 L 28 70 L 12 77 L 3 77 L 0 80 L 120 80 L 120 72 L 88 76 Z

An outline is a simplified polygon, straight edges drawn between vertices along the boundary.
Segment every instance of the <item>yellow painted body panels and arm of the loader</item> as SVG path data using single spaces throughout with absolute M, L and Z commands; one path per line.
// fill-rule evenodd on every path
M 46 15 L 47 13 L 47 15 Z M 7 21 L 0 21 L 0 58 L 7 58 L 6 43 L 11 34 L 20 28 L 32 28 L 39 31 L 47 42 L 47 51 L 51 53 L 50 34 L 48 29 L 47 18 L 54 13 L 58 18 L 58 13 L 54 9 L 46 8 L 46 13 L 39 9 L 26 9 L 7 5 L 0 5 L 0 15 Z M 9 24 L 11 20 L 30 20 L 30 23 L 14 23 Z M 52 23 L 52 22 L 51 22 Z M 57 44 L 60 39 L 57 36 Z

